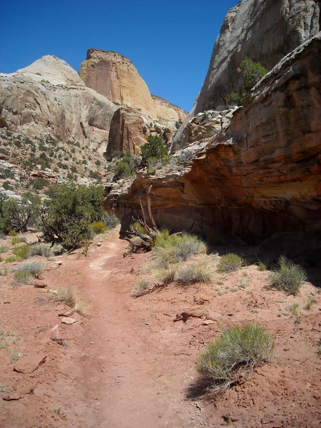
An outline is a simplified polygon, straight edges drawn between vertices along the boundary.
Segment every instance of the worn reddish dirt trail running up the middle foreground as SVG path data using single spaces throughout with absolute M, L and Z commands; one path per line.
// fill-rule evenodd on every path
M 140 308 L 133 308 L 128 285 L 119 277 L 120 266 L 128 263 L 121 257 L 125 246 L 113 235 L 85 269 L 82 292 L 90 304 L 90 321 L 80 389 L 92 400 L 94 412 L 89 415 L 86 407 L 80 415 L 88 427 L 199 426 L 181 386 L 169 385 L 170 373 L 163 366 L 166 344 L 149 337 Z

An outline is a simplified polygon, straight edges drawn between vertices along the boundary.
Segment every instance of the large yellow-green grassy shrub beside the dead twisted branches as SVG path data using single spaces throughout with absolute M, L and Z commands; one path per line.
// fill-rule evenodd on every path
M 187 232 L 170 236 L 167 230 L 157 236 L 153 248 L 156 265 L 165 268 L 168 264 L 186 261 L 192 254 L 205 254 L 206 251 L 206 244 L 198 236 Z

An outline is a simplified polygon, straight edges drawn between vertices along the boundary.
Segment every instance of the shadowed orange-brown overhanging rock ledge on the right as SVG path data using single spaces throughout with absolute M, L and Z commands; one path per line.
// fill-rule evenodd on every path
M 278 233 L 290 242 L 321 233 L 321 33 L 254 87 L 226 130 L 186 164 L 184 173 L 138 174 L 127 193 L 110 192 L 125 230 L 152 184 L 161 226 L 216 241 L 258 243 Z M 188 149 L 187 149 L 188 150 Z M 309 244 L 313 245 L 310 240 Z M 279 248 L 280 249 L 280 248 Z

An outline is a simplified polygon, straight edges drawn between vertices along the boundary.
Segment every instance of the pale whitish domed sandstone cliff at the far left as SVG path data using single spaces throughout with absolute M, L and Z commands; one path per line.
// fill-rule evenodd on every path
M 0 126 L 11 131 L 31 136 L 50 132 L 103 153 L 116 110 L 55 56 L 44 56 L 12 74 L 0 74 Z

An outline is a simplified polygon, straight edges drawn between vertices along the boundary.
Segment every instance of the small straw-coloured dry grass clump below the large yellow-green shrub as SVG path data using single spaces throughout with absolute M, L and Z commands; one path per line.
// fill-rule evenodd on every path
M 176 281 L 181 285 L 190 285 L 196 282 L 209 284 L 212 277 L 213 271 L 209 260 L 204 258 L 182 266 L 177 272 Z

